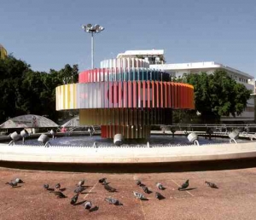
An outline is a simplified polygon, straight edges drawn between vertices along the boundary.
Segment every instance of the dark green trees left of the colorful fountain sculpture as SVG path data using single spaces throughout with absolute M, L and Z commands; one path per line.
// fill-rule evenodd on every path
M 0 60 L 0 123 L 21 114 L 47 115 L 57 121 L 68 117 L 55 111 L 55 87 L 77 83 L 78 65 L 66 65 L 60 71 L 34 72 L 24 61 L 9 55 Z

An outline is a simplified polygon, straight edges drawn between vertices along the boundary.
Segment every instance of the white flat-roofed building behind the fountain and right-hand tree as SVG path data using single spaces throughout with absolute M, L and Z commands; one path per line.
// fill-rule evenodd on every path
M 207 72 L 212 74 L 215 70 L 223 68 L 230 78 L 236 80 L 237 83 L 244 84 L 247 90 L 254 91 L 255 81 L 254 77 L 247 74 L 246 72 L 241 72 L 232 67 L 224 66 L 223 64 L 216 63 L 214 61 L 206 62 L 191 62 L 191 63 L 173 63 L 166 64 L 164 49 L 152 49 L 152 50 L 127 50 L 125 53 L 117 55 L 117 58 L 131 57 L 131 58 L 143 58 L 149 62 L 150 68 L 160 69 L 165 72 L 170 72 L 173 77 L 181 78 L 184 73 L 198 73 Z M 251 98 L 247 101 L 247 107 L 241 115 L 236 116 L 236 118 L 223 117 L 222 121 L 242 121 L 242 122 L 253 122 L 254 121 L 254 99 Z

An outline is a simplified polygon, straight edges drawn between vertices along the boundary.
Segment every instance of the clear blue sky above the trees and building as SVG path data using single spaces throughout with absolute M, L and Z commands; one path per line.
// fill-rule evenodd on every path
M 90 69 L 130 49 L 164 49 L 166 63 L 216 61 L 256 77 L 254 0 L 0 0 L 0 43 L 35 71 Z

